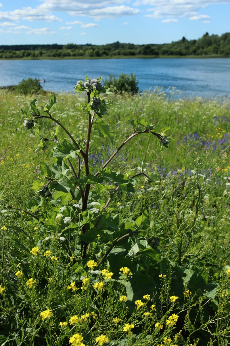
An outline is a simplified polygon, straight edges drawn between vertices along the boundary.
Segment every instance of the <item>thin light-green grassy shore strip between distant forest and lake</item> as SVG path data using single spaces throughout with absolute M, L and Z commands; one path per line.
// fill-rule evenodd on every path
M 172 59 L 172 58 L 190 58 L 190 59 L 207 59 L 207 58 L 230 58 L 230 56 L 223 55 L 117 55 L 117 56 L 49 56 L 49 57 L 23 57 L 23 58 L 0 58 L 3 60 L 99 60 L 99 59 Z

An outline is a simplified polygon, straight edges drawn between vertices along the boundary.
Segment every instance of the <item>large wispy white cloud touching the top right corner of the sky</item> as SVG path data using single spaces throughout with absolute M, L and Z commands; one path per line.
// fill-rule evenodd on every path
M 197 11 L 207 8 L 211 4 L 230 3 L 230 0 L 136 0 L 134 6 L 151 6 L 147 11 L 153 14 L 147 14 L 147 18 L 162 18 L 166 16 L 173 17 L 191 17 L 197 16 Z

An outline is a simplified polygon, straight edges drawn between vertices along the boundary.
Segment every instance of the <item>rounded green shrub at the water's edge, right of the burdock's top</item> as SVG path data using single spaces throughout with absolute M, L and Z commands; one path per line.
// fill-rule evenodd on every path
M 105 79 L 105 85 L 108 85 L 114 92 L 121 94 L 122 92 L 129 92 L 131 94 L 138 93 L 138 81 L 135 73 L 125 74 L 121 73 L 118 78 L 114 74 L 109 75 L 109 79 Z

